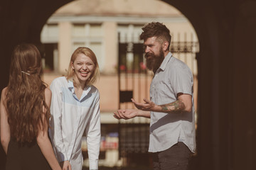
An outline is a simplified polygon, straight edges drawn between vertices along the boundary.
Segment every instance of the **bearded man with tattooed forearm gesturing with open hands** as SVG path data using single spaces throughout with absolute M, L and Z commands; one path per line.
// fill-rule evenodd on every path
M 193 104 L 193 74 L 188 66 L 169 52 L 170 31 L 162 23 L 149 23 L 140 35 L 144 40 L 146 67 L 154 72 L 150 99 L 137 109 L 120 109 L 114 118 L 150 118 L 149 152 L 154 170 L 186 170 L 196 150 Z

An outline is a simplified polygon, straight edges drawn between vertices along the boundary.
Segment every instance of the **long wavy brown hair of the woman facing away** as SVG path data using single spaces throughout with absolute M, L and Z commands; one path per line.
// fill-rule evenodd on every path
M 46 84 L 40 77 L 41 55 L 32 44 L 14 48 L 11 60 L 9 84 L 6 93 L 6 111 L 11 137 L 18 142 L 31 142 L 39 128 L 43 128 L 43 107 L 46 121 L 50 111 L 45 102 Z M 42 125 L 42 126 L 40 126 Z

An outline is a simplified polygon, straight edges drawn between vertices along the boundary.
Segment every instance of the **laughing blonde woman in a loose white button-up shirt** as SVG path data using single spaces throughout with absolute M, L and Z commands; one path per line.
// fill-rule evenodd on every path
M 68 74 L 54 79 L 50 107 L 50 138 L 63 170 L 82 169 L 82 135 L 85 132 L 90 169 L 98 169 L 100 153 L 100 94 L 97 58 L 87 47 L 78 47 Z

